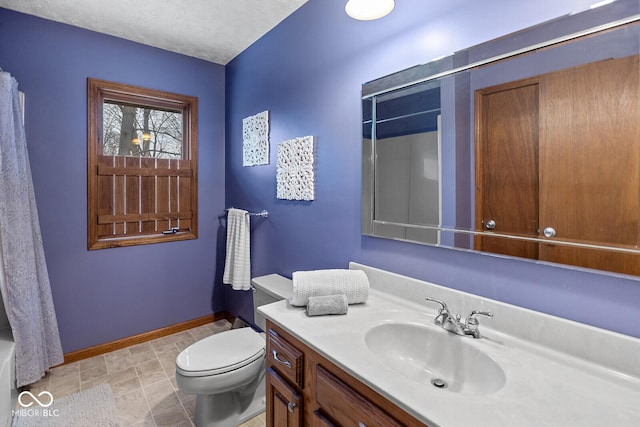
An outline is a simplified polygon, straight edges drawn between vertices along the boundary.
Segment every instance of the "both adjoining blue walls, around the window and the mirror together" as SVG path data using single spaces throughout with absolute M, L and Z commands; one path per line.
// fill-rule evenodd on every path
M 228 206 L 270 211 L 252 220 L 254 275 L 355 260 L 640 336 L 637 280 L 360 235 L 360 85 L 591 1 L 403 0 L 385 19 L 358 22 L 343 0 L 310 0 L 232 61 L 226 84 L 220 65 L 0 8 L 0 67 L 27 95 L 64 351 L 225 308 L 250 318 L 249 294 L 220 285 Z M 197 240 L 87 251 L 87 77 L 199 98 Z M 271 164 L 244 168 L 242 118 L 263 110 Z M 316 200 L 277 200 L 277 143 L 305 135 L 318 141 Z

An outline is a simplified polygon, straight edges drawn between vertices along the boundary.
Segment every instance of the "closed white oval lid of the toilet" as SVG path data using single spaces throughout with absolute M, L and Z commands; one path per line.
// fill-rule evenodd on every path
M 251 328 L 232 329 L 187 347 L 176 358 L 176 367 L 185 376 L 222 374 L 260 359 L 265 345 L 264 338 Z

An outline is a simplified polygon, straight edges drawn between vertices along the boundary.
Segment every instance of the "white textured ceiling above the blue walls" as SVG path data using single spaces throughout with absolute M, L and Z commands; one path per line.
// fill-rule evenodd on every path
M 0 0 L 0 7 L 226 64 L 307 0 Z

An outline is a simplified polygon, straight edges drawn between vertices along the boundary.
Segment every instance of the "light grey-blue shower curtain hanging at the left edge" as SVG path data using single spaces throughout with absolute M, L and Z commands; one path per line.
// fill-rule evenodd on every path
M 63 362 L 58 321 L 44 258 L 18 83 L 0 71 L 1 291 L 16 342 L 16 382 L 33 383 Z M 0 270 L 1 271 L 1 270 Z

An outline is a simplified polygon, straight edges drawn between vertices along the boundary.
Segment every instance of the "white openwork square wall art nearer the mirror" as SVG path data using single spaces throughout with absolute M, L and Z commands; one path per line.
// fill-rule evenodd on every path
M 278 199 L 313 200 L 313 146 L 313 136 L 294 138 L 278 145 Z

